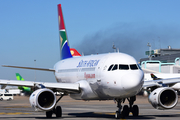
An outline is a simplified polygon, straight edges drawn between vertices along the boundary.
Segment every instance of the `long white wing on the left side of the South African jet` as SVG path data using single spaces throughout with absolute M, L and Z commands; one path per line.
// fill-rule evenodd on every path
M 46 88 L 52 89 L 54 92 L 65 92 L 65 93 L 78 93 L 80 91 L 78 83 L 49 83 L 49 82 L 32 82 L 32 81 L 17 81 L 17 80 L 4 80 L 0 79 L 1 89 L 7 85 L 11 86 L 26 86 L 35 87 L 36 85 L 42 85 Z

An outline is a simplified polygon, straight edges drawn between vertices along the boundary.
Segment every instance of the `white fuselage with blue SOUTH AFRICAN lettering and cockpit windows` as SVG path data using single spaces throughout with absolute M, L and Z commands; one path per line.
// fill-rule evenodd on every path
M 57 82 L 79 83 L 81 93 L 74 99 L 107 100 L 136 95 L 142 88 L 144 73 L 136 60 L 124 53 L 73 57 L 54 66 Z

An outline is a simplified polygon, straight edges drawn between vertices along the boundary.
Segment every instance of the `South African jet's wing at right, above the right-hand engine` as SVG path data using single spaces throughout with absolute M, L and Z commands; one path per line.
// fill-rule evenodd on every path
M 172 85 L 180 82 L 180 77 L 177 78 L 167 78 L 167 79 L 158 79 L 158 80 L 146 80 L 144 81 L 143 87 L 153 87 L 153 86 L 163 86 L 163 85 Z

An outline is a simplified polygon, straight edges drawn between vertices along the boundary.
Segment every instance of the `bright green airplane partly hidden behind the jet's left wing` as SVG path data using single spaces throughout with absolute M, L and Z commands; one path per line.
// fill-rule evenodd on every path
M 24 78 L 19 73 L 16 73 L 16 79 L 19 81 L 24 81 Z M 30 87 L 19 86 L 18 89 L 22 90 L 25 93 L 30 93 L 30 94 L 32 93 L 32 90 Z

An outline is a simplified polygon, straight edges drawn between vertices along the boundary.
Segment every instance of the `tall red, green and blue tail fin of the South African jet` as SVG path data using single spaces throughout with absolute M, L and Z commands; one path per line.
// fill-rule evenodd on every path
M 61 4 L 58 4 L 58 19 L 59 19 L 59 36 L 60 36 L 60 46 L 61 46 L 61 59 L 71 58 L 71 52 L 68 44 L 63 13 L 61 9 Z

